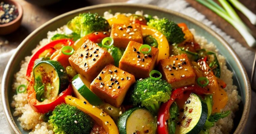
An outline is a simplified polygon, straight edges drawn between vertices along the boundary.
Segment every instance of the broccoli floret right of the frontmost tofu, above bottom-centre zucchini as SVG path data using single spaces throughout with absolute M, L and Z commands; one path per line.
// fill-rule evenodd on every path
M 157 114 L 160 104 L 170 99 L 171 85 L 162 79 L 146 78 L 137 80 L 131 90 L 131 102 L 134 106 L 141 105 Z

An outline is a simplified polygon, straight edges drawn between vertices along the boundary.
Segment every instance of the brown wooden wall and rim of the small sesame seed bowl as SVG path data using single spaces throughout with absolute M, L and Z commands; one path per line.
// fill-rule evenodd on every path
M 18 2 L 15 2 L 13 0 L 1 0 L 1 1 L 8 4 L 15 5 L 18 8 L 18 12 L 19 12 L 19 15 L 16 19 L 6 24 L 0 24 L 0 35 L 7 35 L 17 30 L 20 27 L 22 16 L 23 16 L 23 9 Z

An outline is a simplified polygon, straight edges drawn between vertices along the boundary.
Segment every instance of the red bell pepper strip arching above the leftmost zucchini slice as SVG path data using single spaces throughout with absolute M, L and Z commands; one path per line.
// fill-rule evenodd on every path
M 60 46 L 62 46 L 62 45 L 63 46 L 70 46 L 73 43 L 74 42 L 70 39 L 60 39 L 60 40 L 52 41 L 49 44 L 40 48 L 35 54 L 32 55 L 32 58 L 30 59 L 30 61 L 28 63 L 27 73 L 26 73 L 27 80 L 31 80 L 30 76 L 31 76 L 31 72 L 32 72 L 33 67 L 34 67 L 35 60 L 40 58 L 40 56 L 43 52 L 45 52 L 46 50 L 49 50 L 50 53 L 53 54 L 56 51 L 56 45 L 61 44 Z

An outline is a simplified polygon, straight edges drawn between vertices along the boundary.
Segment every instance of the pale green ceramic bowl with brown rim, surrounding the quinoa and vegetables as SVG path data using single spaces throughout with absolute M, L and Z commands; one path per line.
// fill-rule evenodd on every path
M 20 63 L 26 56 L 31 55 L 31 50 L 43 38 L 46 38 L 48 31 L 56 30 L 58 27 L 65 25 L 70 19 L 78 15 L 79 13 L 91 12 L 103 15 L 105 11 L 134 13 L 137 10 L 143 10 L 145 14 L 157 15 L 158 17 L 166 17 L 174 22 L 185 22 L 189 27 L 196 29 L 197 35 L 204 36 L 209 42 L 213 42 L 219 49 L 219 53 L 226 57 L 227 67 L 231 70 L 233 75 L 233 84 L 238 87 L 238 93 L 242 97 L 242 102 L 239 104 L 239 111 L 236 112 L 234 119 L 234 126 L 232 133 L 241 134 L 246 125 L 246 121 L 249 116 L 250 103 L 251 103 L 251 87 L 245 68 L 241 64 L 238 56 L 234 50 L 224 41 L 224 39 L 214 32 L 209 27 L 205 26 L 199 21 L 192 19 L 181 13 L 163 9 L 152 5 L 139 5 L 139 4 L 127 4 L 127 3 L 111 3 L 101 4 L 95 6 L 84 7 L 76 9 L 60 16 L 57 16 L 50 21 L 44 23 L 39 28 L 34 30 L 17 48 L 17 51 L 10 58 L 7 67 L 5 69 L 2 80 L 2 103 L 6 118 L 11 126 L 11 129 L 15 133 L 27 134 L 21 128 L 18 117 L 13 117 L 12 112 L 14 109 L 10 108 L 10 102 L 15 92 L 11 90 L 14 79 L 14 74 L 20 70 Z

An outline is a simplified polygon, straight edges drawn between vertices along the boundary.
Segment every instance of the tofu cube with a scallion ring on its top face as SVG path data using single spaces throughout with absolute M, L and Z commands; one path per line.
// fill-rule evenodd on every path
M 155 67 L 158 57 L 158 48 L 151 47 L 149 54 L 142 54 L 139 48 L 142 44 L 130 41 L 121 60 L 119 68 L 133 74 L 136 78 L 149 77 L 150 71 Z

